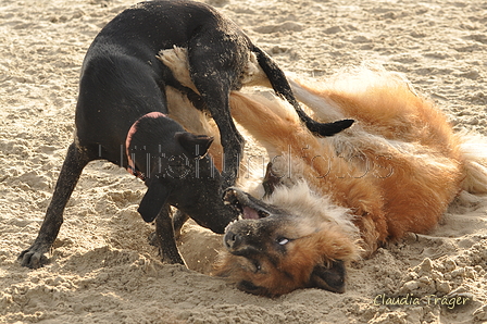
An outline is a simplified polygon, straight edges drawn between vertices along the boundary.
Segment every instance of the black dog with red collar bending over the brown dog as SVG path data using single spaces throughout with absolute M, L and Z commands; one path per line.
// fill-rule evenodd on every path
M 174 46 L 188 49 L 198 96 L 220 128 L 227 170 L 223 179 L 204 157 L 212 139 L 186 133 L 164 115 L 165 87 L 184 87 L 155 55 Z M 157 238 L 166 261 L 183 263 L 170 205 L 223 233 L 236 212 L 223 204 L 222 187 L 235 182 L 242 149 L 242 138 L 229 114 L 228 95 L 240 88 L 252 51 L 275 91 L 294 104 L 312 132 L 329 136 L 351 125 L 350 121 L 320 124 L 309 119 L 275 63 L 212 8 L 177 0 L 137 4 L 111 21 L 88 49 L 82 67 L 75 139 L 39 235 L 20 256 L 22 264 L 39 267 L 46 263 L 45 254 L 58 236 L 63 210 L 83 169 L 100 159 L 126 167 L 148 186 L 139 212 L 147 222 L 155 219 Z

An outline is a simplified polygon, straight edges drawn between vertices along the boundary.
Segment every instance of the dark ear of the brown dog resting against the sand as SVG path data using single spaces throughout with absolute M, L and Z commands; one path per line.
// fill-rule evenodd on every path
M 332 261 L 330 267 L 316 265 L 310 277 L 311 287 L 322 288 L 333 292 L 345 292 L 346 270 L 344 261 Z

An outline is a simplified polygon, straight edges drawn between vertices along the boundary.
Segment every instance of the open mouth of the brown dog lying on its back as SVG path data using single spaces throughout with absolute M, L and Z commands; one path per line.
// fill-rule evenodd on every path
M 265 202 L 253 198 L 247 192 L 240 189 L 230 187 L 223 194 L 223 202 L 235 208 L 240 215 L 238 220 L 232 222 L 230 224 L 238 222 L 240 220 L 259 220 L 271 215 L 271 207 Z M 230 225 L 228 224 L 228 225 Z M 228 226 L 227 226 L 228 227 Z

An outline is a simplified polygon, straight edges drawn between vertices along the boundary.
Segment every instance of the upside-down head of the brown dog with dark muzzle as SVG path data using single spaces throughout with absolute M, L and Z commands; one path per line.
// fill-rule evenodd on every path
M 345 291 L 345 262 L 360 249 L 348 210 L 321 205 L 327 199 L 314 197 L 305 184 L 277 188 L 269 198 L 273 204 L 236 188 L 224 199 L 241 216 L 226 227 L 227 251 L 215 275 L 263 296 L 305 287 Z

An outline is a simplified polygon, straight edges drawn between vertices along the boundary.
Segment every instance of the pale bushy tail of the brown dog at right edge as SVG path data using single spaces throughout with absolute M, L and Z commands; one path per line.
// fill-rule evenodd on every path
M 459 136 L 465 172 L 462 189 L 471 194 L 487 194 L 487 138 L 466 132 Z

